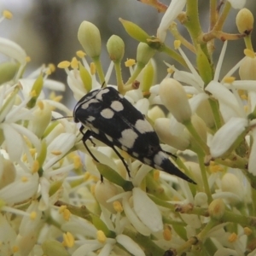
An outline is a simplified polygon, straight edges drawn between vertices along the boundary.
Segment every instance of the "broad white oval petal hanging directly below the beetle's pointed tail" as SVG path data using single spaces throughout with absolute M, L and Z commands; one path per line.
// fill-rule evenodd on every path
M 132 190 L 134 211 L 149 230 L 158 232 L 163 230 L 163 222 L 160 209 L 148 195 L 139 188 Z

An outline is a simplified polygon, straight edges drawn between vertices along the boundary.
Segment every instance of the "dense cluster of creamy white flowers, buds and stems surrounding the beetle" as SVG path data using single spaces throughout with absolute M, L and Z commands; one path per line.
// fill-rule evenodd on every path
M 120 68 L 124 41 L 109 38 L 111 61 L 104 73 L 101 35 L 88 21 L 82 22 L 78 33 L 86 55 L 78 51 L 72 61 L 58 66 L 65 69 L 76 101 L 108 84 L 114 68 L 117 83 L 108 86 L 146 116 L 162 148 L 177 154 L 173 162 L 196 184 L 153 170 L 120 151 L 130 178 L 113 150 L 92 138 L 86 144 L 100 161 L 95 162 L 81 142 L 79 126 L 59 119 L 63 113 L 70 117 L 72 111 L 55 96 L 54 91 L 65 90 L 65 85 L 48 78 L 54 67 L 40 67 L 25 78 L 26 52 L 0 38 L 0 51 L 9 57 L 0 65 L 0 255 L 256 253 L 253 15 L 242 9 L 245 0 L 222 2 L 222 12 L 213 0 L 212 30 L 203 33 L 197 2 L 172 0 L 156 37 L 120 19 L 140 42 L 137 60 L 125 61 L 131 73 L 126 83 Z M 150 3 L 163 8 L 157 1 Z M 241 9 L 236 35 L 222 32 L 231 8 Z M 11 15 L 4 12 L 3 16 Z M 176 19 L 188 29 L 193 44 L 177 32 Z M 177 39 L 173 48 L 165 42 L 169 31 Z M 225 42 L 218 63 L 212 63 L 216 38 Z M 244 38 L 245 57 L 230 64 L 230 72 L 220 78 L 228 41 L 236 38 Z M 196 63 L 189 61 L 184 47 L 195 53 Z M 166 78 L 155 84 L 152 57 L 158 51 L 178 61 L 185 71 L 166 63 Z M 239 79 L 231 77 L 237 70 Z M 52 91 L 49 96 L 44 88 Z

